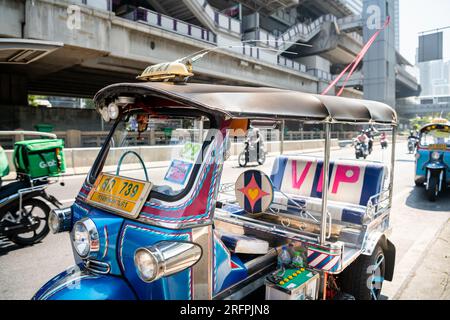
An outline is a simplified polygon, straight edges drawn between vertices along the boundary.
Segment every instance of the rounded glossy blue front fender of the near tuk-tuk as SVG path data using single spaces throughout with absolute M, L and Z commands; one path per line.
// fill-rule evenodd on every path
M 74 266 L 47 282 L 33 300 L 136 300 L 124 279 Z

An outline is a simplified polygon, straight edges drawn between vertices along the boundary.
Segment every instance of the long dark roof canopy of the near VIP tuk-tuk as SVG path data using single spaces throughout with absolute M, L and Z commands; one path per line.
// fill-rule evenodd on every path
M 100 90 L 94 100 L 97 108 L 102 108 L 119 96 L 154 96 L 173 101 L 177 107 L 196 108 L 210 114 L 221 113 L 231 118 L 397 124 L 395 110 L 381 102 L 267 87 L 120 83 Z

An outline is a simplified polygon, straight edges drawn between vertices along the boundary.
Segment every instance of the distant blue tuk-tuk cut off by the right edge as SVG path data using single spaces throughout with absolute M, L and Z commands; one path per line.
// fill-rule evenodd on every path
M 430 201 L 450 184 L 450 122 L 435 119 L 420 129 L 416 152 L 416 186 L 425 185 Z

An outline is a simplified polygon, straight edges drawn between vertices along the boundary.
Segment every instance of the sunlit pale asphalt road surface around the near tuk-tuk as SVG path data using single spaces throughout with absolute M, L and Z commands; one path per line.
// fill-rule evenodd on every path
M 353 149 L 335 150 L 332 157 L 354 158 Z M 405 143 L 398 144 L 396 158 L 394 205 L 391 213 L 393 232 L 390 239 L 397 248 L 397 256 L 394 281 L 385 282 L 383 287 L 386 299 L 403 297 L 402 293 L 415 270 L 421 266 L 434 240 L 450 219 L 449 193 L 438 202 L 430 203 L 426 199 L 425 190 L 414 186 L 414 156 L 407 154 Z M 389 152 L 376 147 L 371 159 L 388 162 Z M 273 157 L 269 157 L 260 169 L 270 173 L 273 160 Z M 160 175 L 164 171 L 152 169 L 149 174 Z M 236 159 L 230 159 L 225 163 L 222 182 L 234 182 L 240 172 L 242 169 L 238 167 Z M 66 177 L 65 186 L 52 185 L 48 192 L 70 205 L 83 180 L 84 176 Z M 30 299 L 47 280 L 73 262 L 68 233 L 50 234 L 41 243 L 26 248 L 0 239 L 0 299 Z M 439 264 L 439 261 L 436 263 Z M 435 267 L 439 269 L 439 265 Z

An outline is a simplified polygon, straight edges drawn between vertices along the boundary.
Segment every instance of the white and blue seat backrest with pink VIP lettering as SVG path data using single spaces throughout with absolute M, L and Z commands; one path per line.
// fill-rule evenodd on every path
M 380 193 L 387 176 L 386 165 L 378 162 L 336 160 L 330 162 L 329 199 L 366 206 Z M 273 165 L 275 190 L 288 195 L 322 197 L 323 159 L 281 156 Z

